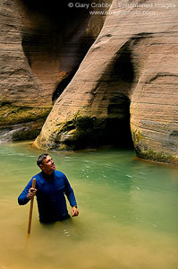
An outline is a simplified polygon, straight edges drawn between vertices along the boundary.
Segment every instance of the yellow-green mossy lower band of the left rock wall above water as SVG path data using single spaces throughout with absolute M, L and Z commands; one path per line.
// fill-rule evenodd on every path
M 0 103 L 0 129 L 7 140 L 35 139 L 51 108 L 18 107 L 10 102 Z

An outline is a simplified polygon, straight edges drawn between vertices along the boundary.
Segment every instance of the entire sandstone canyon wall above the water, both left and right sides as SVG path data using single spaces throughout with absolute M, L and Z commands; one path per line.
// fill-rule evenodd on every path
M 178 4 L 111 2 L 1 1 L 1 141 L 178 164 Z

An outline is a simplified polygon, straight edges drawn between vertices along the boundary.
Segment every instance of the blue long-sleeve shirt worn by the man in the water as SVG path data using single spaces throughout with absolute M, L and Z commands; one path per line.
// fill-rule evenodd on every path
M 37 188 L 39 221 L 60 221 L 69 216 L 64 195 L 67 196 L 71 206 L 77 206 L 77 203 L 72 187 L 64 173 L 55 170 L 53 175 L 48 177 L 40 172 L 33 178 L 36 178 L 35 188 Z M 30 179 L 30 182 L 18 197 L 20 205 L 27 204 L 30 201 L 27 195 L 30 187 L 32 187 L 33 178 Z

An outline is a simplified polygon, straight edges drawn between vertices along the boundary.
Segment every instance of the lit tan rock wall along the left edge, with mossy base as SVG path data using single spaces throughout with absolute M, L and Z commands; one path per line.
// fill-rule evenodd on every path
M 39 105 L 38 100 L 43 94 L 21 48 L 19 4 L 16 1 L 1 1 L 0 16 L 0 139 L 16 140 L 21 132 L 27 139 L 29 134 L 31 137 L 38 134 L 50 105 Z

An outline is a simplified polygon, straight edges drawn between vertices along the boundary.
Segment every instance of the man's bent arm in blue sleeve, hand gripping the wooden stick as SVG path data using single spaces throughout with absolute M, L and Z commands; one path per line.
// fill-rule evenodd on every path
M 32 187 L 32 181 L 33 181 L 33 178 L 30 179 L 30 182 L 28 183 L 28 185 L 24 188 L 21 195 L 19 195 L 18 203 L 20 205 L 27 204 L 30 201 L 30 199 L 34 195 L 36 195 L 37 189 Z

